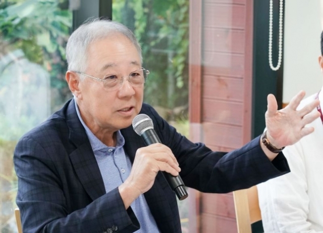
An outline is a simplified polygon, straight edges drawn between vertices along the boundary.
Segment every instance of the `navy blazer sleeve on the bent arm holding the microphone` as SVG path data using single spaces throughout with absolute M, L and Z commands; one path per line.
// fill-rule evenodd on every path
M 131 208 L 125 209 L 118 188 L 82 209 L 69 211 L 71 207 L 49 152 L 35 139 L 25 136 L 20 140 L 14 164 L 18 176 L 16 202 L 24 233 L 106 232 L 111 227 L 117 227 L 118 232 L 139 229 Z

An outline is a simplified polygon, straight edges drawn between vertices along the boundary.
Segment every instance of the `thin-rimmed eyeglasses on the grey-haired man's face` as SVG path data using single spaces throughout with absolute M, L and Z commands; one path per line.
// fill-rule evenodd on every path
M 120 74 L 109 74 L 109 75 L 105 75 L 104 78 L 101 79 L 101 78 L 93 77 L 88 74 L 84 74 L 79 71 L 74 71 L 74 72 L 103 82 L 104 88 L 106 88 L 109 91 L 114 91 L 119 89 L 124 81 L 124 77 L 128 78 L 128 81 L 132 86 L 140 86 L 146 82 L 147 76 L 150 73 L 149 70 L 142 68 L 140 70 L 131 72 L 128 76 L 121 76 Z

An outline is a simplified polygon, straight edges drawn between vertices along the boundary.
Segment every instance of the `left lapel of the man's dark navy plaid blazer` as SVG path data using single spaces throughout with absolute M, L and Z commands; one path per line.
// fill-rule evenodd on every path
M 70 141 L 76 146 L 69 155 L 71 162 L 86 193 L 95 200 L 105 194 L 104 183 L 85 129 L 77 116 L 74 99 L 68 106 L 66 119 Z

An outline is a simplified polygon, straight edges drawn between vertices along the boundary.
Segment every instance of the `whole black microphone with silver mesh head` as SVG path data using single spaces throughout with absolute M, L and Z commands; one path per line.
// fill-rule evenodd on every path
M 153 129 L 151 118 L 146 114 L 139 114 L 135 116 L 132 121 L 132 127 L 135 132 L 142 137 L 147 146 L 154 143 L 161 143 L 157 133 Z M 163 174 L 179 200 L 184 200 L 188 197 L 181 176 L 174 176 L 165 171 L 163 171 Z

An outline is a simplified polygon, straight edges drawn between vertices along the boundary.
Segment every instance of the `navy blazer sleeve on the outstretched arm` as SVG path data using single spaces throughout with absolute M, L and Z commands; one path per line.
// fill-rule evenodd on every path
M 272 162 L 266 157 L 259 145 L 260 136 L 229 153 L 213 152 L 179 134 L 153 108 L 149 112 L 157 134 L 173 151 L 181 167 L 180 175 L 190 188 L 205 193 L 229 193 L 290 171 L 283 153 Z

